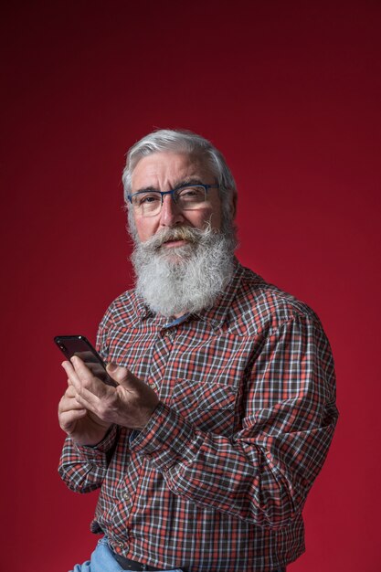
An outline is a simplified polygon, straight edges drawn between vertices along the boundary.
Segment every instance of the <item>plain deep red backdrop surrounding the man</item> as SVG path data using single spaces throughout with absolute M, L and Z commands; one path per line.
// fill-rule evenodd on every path
M 3 8 L 3 569 L 90 554 L 96 495 L 57 474 L 51 339 L 94 339 L 131 286 L 124 154 L 185 127 L 237 179 L 238 258 L 310 303 L 333 345 L 341 419 L 290 571 L 381 570 L 380 16 L 371 0 Z

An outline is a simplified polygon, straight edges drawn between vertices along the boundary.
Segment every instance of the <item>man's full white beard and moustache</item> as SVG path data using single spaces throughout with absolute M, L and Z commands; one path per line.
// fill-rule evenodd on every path
M 189 244 L 161 246 L 180 239 Z M 222 234 L 210 226 L 167 228 L 135 246 L 136 291 L 153 312 L 165 317 L 210 308 L 231 278 L 235 246 L 234 232 Z

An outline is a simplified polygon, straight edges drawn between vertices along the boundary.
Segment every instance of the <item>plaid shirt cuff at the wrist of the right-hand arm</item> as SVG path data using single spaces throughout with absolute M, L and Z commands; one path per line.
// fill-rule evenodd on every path
M 147 425 L 130 444 L 134 452 L 142 453 L 152 461 L 157 470 L 167 471 L 179 461 L 192 461 L 199 433 L 174 409 L 160 402 Z

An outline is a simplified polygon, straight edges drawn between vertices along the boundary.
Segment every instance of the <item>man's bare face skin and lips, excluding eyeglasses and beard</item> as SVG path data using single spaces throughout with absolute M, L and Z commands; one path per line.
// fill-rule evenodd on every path
M 143 157 L 132 172 L 132 194 L 147 188 L 157 191 L 170 191 L 188 181 L 198 180 L 204 185 L 215 184 L 216 177 L 210 167 L 199 158 L 182 153 L 155 153 Z M 166 195 L 160 213 L 154 217 L 142 217 L 133 213 L 138 238 L 144 242 L 165 228 L 192 227 L 206 228 L 210 221 L 211 228 L 221 228 L 221 202 L 218 189 L 208 191 L 206 206 L 198 210 L 182 211 L 177 207 L 172 196 Z M 165 242 L 163 248 L 175 249 L 185 246 L 186 240 Z

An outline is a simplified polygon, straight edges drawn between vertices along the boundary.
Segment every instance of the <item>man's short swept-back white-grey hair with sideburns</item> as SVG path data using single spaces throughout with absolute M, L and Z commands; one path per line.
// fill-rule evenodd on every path
M 212 173 L 216 176 L 219 185 L 222 228 L 232 228 L 237 202 L 237 187 L 233 175 L 223 154 L 207 139 L 190 131 L 161 129 L 145 135 L 143 139 L 132 145 L 127 154 L 127 162 L 122 175 L 126 206 L 130 207 L 128 196 L 131 195 L 132 191 L 133 169 L 143 157 L 164 152 L 196 155 L 205 160 Z M 234 206 L 233 208 L 232 205 Z M 132 237 L 136 239 L 131 208 L 129 208 L 129 224 Z

